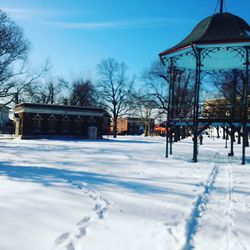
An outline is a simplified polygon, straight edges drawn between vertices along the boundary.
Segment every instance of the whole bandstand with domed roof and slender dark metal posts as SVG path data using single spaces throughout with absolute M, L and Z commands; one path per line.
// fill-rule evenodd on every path
M 172 154 L 173 133 L 180 126 L 192 128 L 193 135 L 193 162 L 197 162 L 199 135 L 209 126 L 223 126 L 228 128 L 231 135 L 231 152 L 233 156 L 234 131 L 240 130 L 242 142 L 242 164 L 246 163 L 246 146 L 248 145 L 248 128 L 250 117 L 248 112 L 249 99 L 249 52 L 250 27 L 242 18 L 224 12 L 224 1 L 220 0 L 218 13 L 202 20 L 187 36 L 176 46 L 160 53 L 162 62 L 169 73 L 169 99 L 166 135 L 166 157 Z M 193 108 L 190 114 L 176 115 L 175 109 L 175 77 L 179 69 L 193 70 L 194 97 Z M 218 70 L 237 69 L 244 71 L 242 95 L 237 96 L 236 87 L 232 88 L 230 112 L 224 116 L 205 115 L 201 110 L 201 73 Z M 237 102 L 241 102 L 241 111 L 236 112 Z M 218 104 L 219 105 L 219 104 Z

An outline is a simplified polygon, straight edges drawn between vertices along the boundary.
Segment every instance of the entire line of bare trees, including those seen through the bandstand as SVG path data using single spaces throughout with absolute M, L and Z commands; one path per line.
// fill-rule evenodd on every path
M 52 77 L 48 61 L 39 69 L 31 69 L 27 60 L 30 50 L 31 43 L 23 30 L 0 10 L 0 108 L 18 102 L 102 107 L 110 114 L 114 137 L 119 117 L 139 117 L 144 122 L 145 134 L 151 119 L 166 119 L 169 74 L 160 60 L 136 77 L 128 74 L 125 63 L 106 58 L 97 65 L 95 81 L 84 76 L 69 81 Z M 194 75 L 192 71 L 175 71 L 173 117 L 192 115 Z M 216 87 L 217 96 L 229 100 L 233 83 L 242 82 L 244 74 L 236 70 L 213 72 L 208 78 Z M 237 85 L 238 95 L 241 86 Z

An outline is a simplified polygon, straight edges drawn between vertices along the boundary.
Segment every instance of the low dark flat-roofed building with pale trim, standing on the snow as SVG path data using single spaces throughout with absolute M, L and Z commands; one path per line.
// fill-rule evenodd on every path
M 15 107 L 15 135 L 22 139 L 81 137 L 98 139 L 109 129 L 101 108 L 21 103 Z

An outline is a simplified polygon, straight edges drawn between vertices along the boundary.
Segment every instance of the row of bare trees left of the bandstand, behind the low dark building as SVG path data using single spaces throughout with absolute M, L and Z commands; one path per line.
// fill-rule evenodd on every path
M 0 108 L 19 102 L 102 107 L 111 116 L 114 136 L 119 117 L 137 116 L 148 124 L 149 119 L 166 110 L 163 78 L 157 94 L 147 91 L 153 85 L 156 65 L 143 76 L 131 77 L 125 63 L 106 58 L 97 65 L 97 80 L 80 76 L 69 81 L 52 77 L 49 62 L 37 70 L 30 68 L 30 50 L 31 43 L 22 28 L 0 10 Z M 138 81 L 144 82 L 140 89 L 136 87 Z

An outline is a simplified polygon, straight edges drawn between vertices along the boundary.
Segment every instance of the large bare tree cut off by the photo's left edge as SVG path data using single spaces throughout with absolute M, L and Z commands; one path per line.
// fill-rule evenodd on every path
M 24 65 L 30 43 L 23 30 L 0 10 L 0 98 L 5 104 L 20 88 L 17 76 L 25 74 Z

